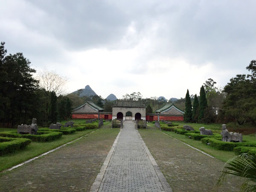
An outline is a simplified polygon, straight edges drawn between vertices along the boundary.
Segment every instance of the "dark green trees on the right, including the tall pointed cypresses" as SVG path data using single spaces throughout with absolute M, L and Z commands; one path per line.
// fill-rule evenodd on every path
M 223 89 L 208 79 L 200 90 L 200 96 L 185 97 L 185 122 L 244 122 L 256 125 L 256 61 L 246 69 L 250 74 L 238 74 L 230 79 Z M 192 105 L 193 100 L 193 105 Z

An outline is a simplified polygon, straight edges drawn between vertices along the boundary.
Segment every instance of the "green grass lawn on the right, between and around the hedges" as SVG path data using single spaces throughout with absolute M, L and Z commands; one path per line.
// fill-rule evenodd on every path
M 184 122 L 178 122 L 177 124 L 179 124 L 179 126 L 183 126 L 183 125 L 190 125 L 195 129 L 198 129 L 200 127 L 205 127 L 208 129 L 212 129 L 213 132 L 215 132 L 215 130 L 217 130 L 218 128 L 221 131 L 221 125 L 220 124 L 196 124 L 196 123 L 184 123 Z M 156 129 L 153 123 L 148 123 L 148 129 L 152 130 L 152 129 Z M 224 162 L 226 162 L 227 160 L 229 160 L 230 158 L 236 156 L 235 153 L 233 151 L 221 151 L 221 150 L 216 150 L 214 148 L 212 148 L 209 145 L 205 145 L 203 143 L 201 143 L 201 141 L 198 140 L 192 140 L 189 139 L 188 137 L 186 137 L 185 135 L 182 134 L 177 134 L 175 132 L 171 132 L 171 131 L 162 131 L 163 133 L 168 134 L 171 137 L 174 137 L 186 144 L 189 144 L 195 148 L 200 149 L 201 151 L 206 152 L 207 154 L 212 155 L 213 157 L 218 158 L 219 160 L 222 160 Z M 256 141 L 256 137 L 251 136 L 251 135 L 243 135 L 243 139 L 244 140 L 250 140 L 250 141 Z

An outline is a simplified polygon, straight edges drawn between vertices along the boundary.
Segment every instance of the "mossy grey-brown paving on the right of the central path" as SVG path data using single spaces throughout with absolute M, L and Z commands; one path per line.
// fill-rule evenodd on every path
M 241 177 L 230 177 L 227 183 L 217 187 L 223 161 L 196 151 L 161 131 L 139 132 L 174 192 L 239 191 Z

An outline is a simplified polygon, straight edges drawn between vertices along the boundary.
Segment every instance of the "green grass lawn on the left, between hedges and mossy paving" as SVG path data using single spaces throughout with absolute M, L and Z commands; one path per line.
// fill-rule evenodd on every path
M 84 119 L 83 119 L 83 121 L 81 121 L 81 119 L 78 119 L 78 120 L 77 119 L 73 120 L 73 121 L 75 121 L 74 125 L 76 125 L 77 122 L 85 122 Z M 111 122 L 104 122 L 104 125 L 101 127 L 101 129 L 110 128 L 110 127 L 111 127 Z M 9 131 L 9 130 L 13 130 L 13 129 L 7 130 L 6 128 L 0 128 L 0 131 L 2 131 L 2 130 Z M 33 158 L 33 157 L 37 157 L 38 155 L 43 154 L 49 150 L 52 150 L 53 148 L 56 148 L 60 145 L 63 145 L 65 143 L 75 140 L 81 136 L 84 136 L 85 134 L 88 134 L 91 131 L 95 131 L 95 129 L 94 130 L 92 129 L 92 130 L 76 131 L 73 134 L 62 135 L 62 137 L 60 139 L 50 141 L 50 142 L 45 142 L 45 143 L 32 142 L 31 144 L 26 146 L 26 148 L 23 150 L 0 156 L 0 171 L 2 171 L 4 169 L 11 168 L 12 166 L 15 166 L 19 163 L 22 163 L 26 160 Z

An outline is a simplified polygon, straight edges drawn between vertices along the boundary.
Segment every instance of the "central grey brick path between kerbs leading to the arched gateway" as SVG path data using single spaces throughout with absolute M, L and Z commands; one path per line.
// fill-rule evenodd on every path
M 99 192 L 163 192 L 134 122 L 126 121 Z

